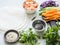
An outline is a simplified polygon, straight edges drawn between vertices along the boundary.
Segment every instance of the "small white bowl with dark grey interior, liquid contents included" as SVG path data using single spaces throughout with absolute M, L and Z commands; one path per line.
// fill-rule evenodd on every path
M 35 20 L 33 21 L 32 26 L 37 33 L 41 33 L 46 30 L 47 24 L 44 20 Z

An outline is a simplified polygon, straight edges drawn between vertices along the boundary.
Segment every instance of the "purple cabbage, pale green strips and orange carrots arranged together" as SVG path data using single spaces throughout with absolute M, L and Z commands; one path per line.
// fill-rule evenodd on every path
M 46 20 L 46 22 L 51 20 L 59 20 L 60 11 L 58 10 L 58 8 L 56 8 L 59 7 L 59 5 L 56 4 L 55 1 L 43 2 L 40 7 L 42 7 L 39 11 L 40 15 L 44 17 L 44 20 Z

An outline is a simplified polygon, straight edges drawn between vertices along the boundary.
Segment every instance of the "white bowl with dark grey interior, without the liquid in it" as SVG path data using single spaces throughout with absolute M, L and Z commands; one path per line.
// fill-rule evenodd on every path
M 37 29 L 37 28 L 35 28 L 35 25 L 38 24 L 38 23 L 43 24 L 44 27 L 43 27 L 42 29 Z M 32 23 L 32 27 L 35 29 L 36 33 L 37 33 L 38 35 L 40 35 L 41 33 L 43 33 L 43 32 L 46 31 L 47 24 L 46 24 L 46 22 L 45 22 L 44 20 L 35 20 L 35 21 L 33 21 L 33 23 Z

